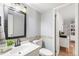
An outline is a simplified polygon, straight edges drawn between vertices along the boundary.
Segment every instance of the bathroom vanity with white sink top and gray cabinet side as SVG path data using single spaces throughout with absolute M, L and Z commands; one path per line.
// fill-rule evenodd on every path
M 2 56 L 39 56 L 38 45 L 31 42 L 27 42 L 18 47 L 13 47 L 6 53 L 1 54 Z

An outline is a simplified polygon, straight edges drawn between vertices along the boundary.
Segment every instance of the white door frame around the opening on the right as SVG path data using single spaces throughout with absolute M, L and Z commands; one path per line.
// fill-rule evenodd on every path
M 55 56 L 58 56 L 56 54 L 56 10 L 60 9 L 60 8 L 63 8 L 63 7 L 66 7 L 68 5 L 70 5 L 72 3 L 67 3 L 67 4 L 63 4 L 61 6 L 58 6 L 56 8 L 54 8 L 53 10 L 55 11 L 54 12 L 54 20 L 55 20 Z M 75 3 L 75 37 L 76 37 L 76 40 L 75 40 L 75 56 L 78 56 L 78 3 Z

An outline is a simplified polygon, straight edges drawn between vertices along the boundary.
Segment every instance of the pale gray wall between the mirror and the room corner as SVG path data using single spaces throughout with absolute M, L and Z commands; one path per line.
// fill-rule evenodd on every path
M 36 10 L 27 7 L 27 37 L 40 35 L 41 15 Z

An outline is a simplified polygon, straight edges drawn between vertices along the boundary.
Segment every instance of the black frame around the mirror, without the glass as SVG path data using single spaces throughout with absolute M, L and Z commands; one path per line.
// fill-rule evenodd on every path
M 16 11 L 13 7 L 4 6 L 4 31 L 5 31 L 5 38 L 6 39 L 16 39 L 16 38 L 26 37 L 26 13 L 24 13 L 22 11 L 16 11 L 16 12 L 22 13 L 25 16 L 24 17 L 24 35 L 8 37 L 8 9 Z

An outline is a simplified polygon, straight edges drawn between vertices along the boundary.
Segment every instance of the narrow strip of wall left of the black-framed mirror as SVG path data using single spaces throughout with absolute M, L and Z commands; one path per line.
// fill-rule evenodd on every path
M 6 44 L 5 44 L 5 34 L 4 34 L 4 11 L 3 11 L 3 4 L 0 4 L 0 16 L 1 16 L 0 47 L 4 47 Z

